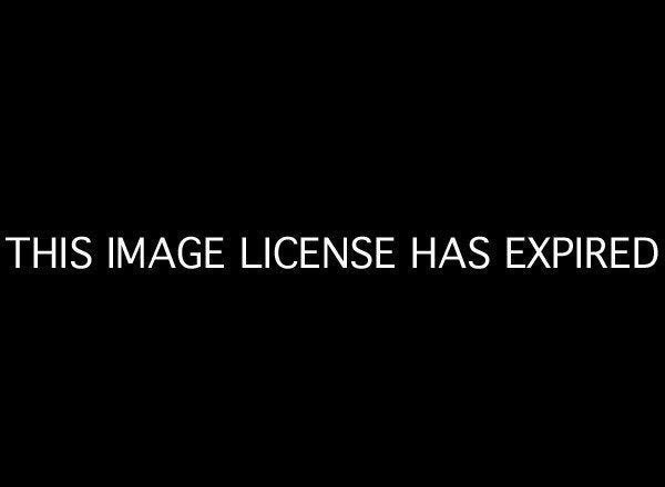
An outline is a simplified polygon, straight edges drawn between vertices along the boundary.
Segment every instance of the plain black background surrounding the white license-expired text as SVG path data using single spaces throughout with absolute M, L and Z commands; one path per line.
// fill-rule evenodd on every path
M 656 32 L 597 12 L 274 13 L 33 12 L 3 61 L 2 236 L 395 235 L 400 269 L 6 266 L 13 457 L 634 475 L 658 431 L 662 263 L 510 272 L 502 241 L 662 245 Z M 474 235 L 488 271 L 408 270 L 411 236 Z

